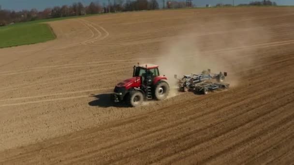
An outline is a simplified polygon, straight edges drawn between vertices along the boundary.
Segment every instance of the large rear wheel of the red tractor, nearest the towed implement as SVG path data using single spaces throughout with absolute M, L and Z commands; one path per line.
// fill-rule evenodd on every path
M 153 95 L 157 100 L 164 100 L 169 94 L 169 85 L 165 81 L 159 81 L 154 85 Z

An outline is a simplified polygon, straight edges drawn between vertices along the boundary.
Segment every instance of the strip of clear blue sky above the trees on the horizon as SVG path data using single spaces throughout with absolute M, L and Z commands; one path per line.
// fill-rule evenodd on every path
M 61 6 L 64 4 L 72 4 L 73 2 L 82 2 L 84 5 L 88 5 L 91 1 L 97 0 L 0 0 L 0 5 L 2 9 L 10 10 L 22 10 L 22 9 L 32 9 L 36 8 L 38 10 L 43 10 L 46 7 Z M 114 0 L 110 0 L 114 1 Z M 167 0 L 165 0 L 167 1 Z M 182 0 L 178 0 L 182 1 Z M 248 3 L 253 0 L 235 0 L 235 4 Z M 255 1 L 255 0 L 254 0 Z M 278 3 L 278 5 L 294 5 L 294 0 L 271 0 Z M 101 4 L 108 3 L 108 0 L 99 0 Z M 159 4 L 162 6 L 162 0 L 158 0 Z M 205 4 L 215 5 L 217 3 L 233 3 L 233 0 L 193 0 L 193 4 L 198 7 L 204 7 Z

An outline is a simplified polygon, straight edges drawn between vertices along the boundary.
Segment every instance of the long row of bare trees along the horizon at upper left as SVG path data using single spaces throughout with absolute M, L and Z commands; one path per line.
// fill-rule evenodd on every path
M 27 22 L 49 18 L 59 18 L 67 16 L 115 13 L 139 10 L 155 10 L 159 9 L 156 0 L 114 0 L 113 3 L 101 5 L 99 2 L 90 2 L 88 6 L 84 6 L 81 2 L 72 5 L 55 6 L 53 8 L 45 8 L 43 11 L 37 9 L 11 11 L 1 9 L 0 5 L 0 26 L 14 24 L 18 22 Z

